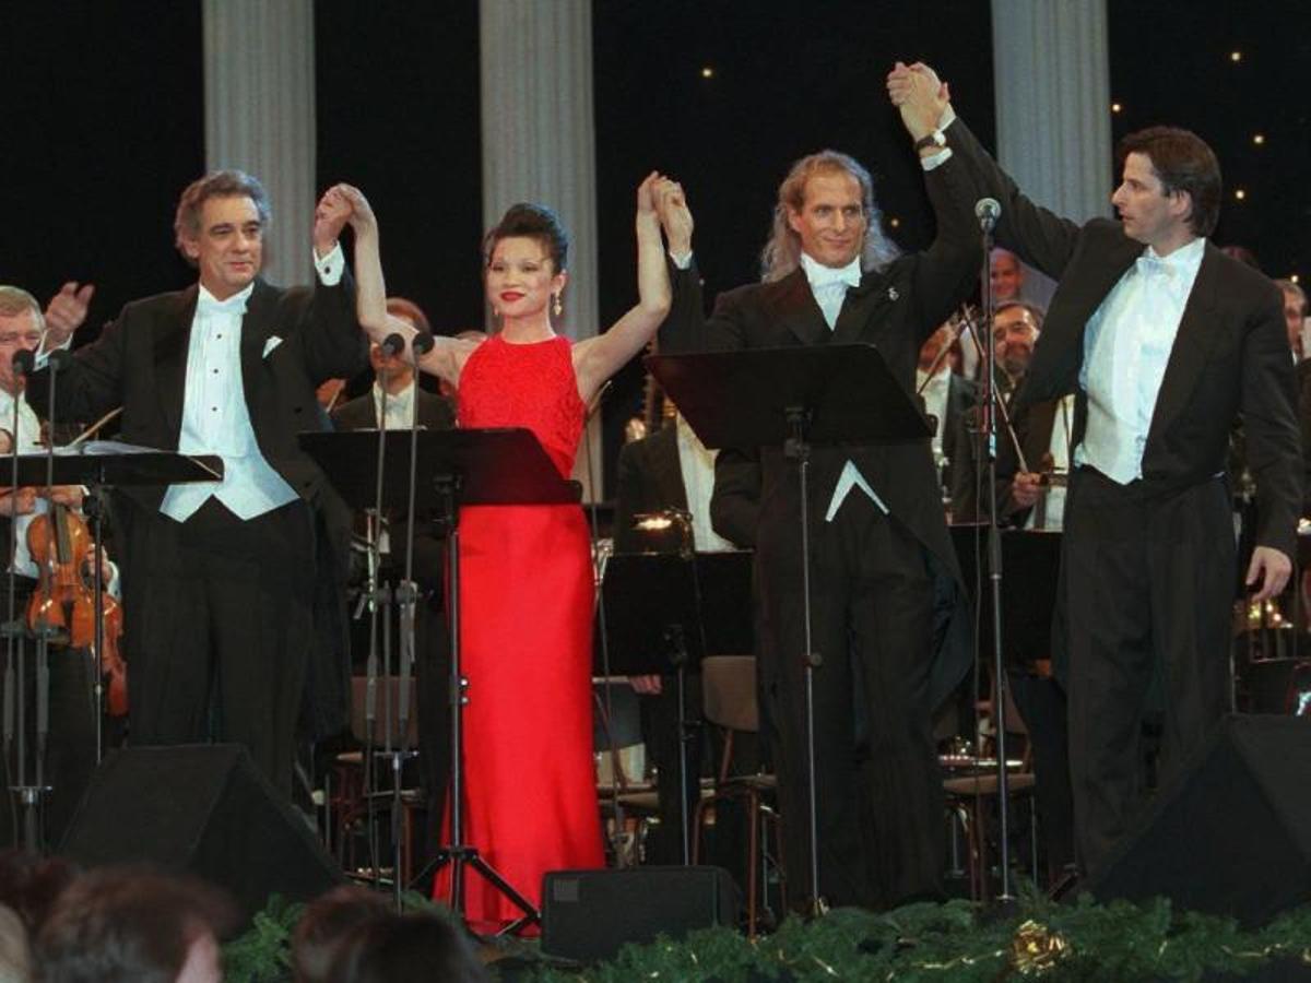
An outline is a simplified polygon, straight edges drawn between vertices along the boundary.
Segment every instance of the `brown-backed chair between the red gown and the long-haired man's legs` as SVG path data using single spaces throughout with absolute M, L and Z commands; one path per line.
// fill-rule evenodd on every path
M 760 706 L 755 691 L 753 655 L 707 655 L 701 659 L 701 693 L 705 722 L 724 734 L 724 752 L 714 786 L 696 806 L 692 836 L 692 864 L 699 862 L 707 811 L 724 802 L 745 802 L 747 811 L 746 894 L 747 935 L 755 938 L 760 895 L 767 890 L 768 870 L 779 877 L 780 903 L 787 910 L 787 882 L 783 873 L 783 819 L 777 809 L 777 780 L 773 775 L 733 775 L 734 734 L 760 730 Z M 768 834 L 773 832 L 773 855 Z M 766 899 L 767 900 L 767 899 Z

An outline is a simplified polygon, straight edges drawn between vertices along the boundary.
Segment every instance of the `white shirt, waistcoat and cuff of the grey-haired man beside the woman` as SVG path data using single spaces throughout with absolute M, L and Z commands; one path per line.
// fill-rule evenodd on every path
M 340 245 L 323 260 L 315 257 L 319 279 L 329 287 L 341 279 L 343 266 Z M 169 485 L 160 511 L 177 522 L 186 522 L 210 495 L 245 520 L 296 498 L 296 492 L 260 451 L 246 408 L 241 330 L 246 301 L 253 291 L 252 283 L 227 300 L 216 300 L 203 286 L 199 288 L 187 342 L 186 389 L 177 450 L 178 453 L 218 455 L 223 459 L 223 480 Z

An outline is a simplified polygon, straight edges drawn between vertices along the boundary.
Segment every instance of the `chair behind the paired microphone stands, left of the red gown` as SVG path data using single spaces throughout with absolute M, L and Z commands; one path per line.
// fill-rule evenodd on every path
M 397 726 L 397 709 L 400 706 L 400 679 L 396 676 L 384 676 L 378 679 L 378 685 L 375 691 L 375 723 L 374 731 L 370 733 L 368 721 L 366 720 L 367 713 L 367 692 L 368 692 L 368 678 L 367 676 L 353 676 L 351 684 L 351 710 L 350 710 L 350 730 L 355 741 L 361 743 L 361 748 L 355 751 L 342 751 L 338 754 L 333 761 L 332 768 L 332 785 L 326 790 L 328 801 L 328 830 L 330 831 L 330 844 L 336 847 L 337 861 L 347 873 L 353 873 L 358 869 L 359 862 L 359 844 L 364 845 L 364 858 L 368 860 L 371 856 L 370 838 L 379 838 L 380 841 L 387 841 L 385 835 L 380 836 L 383 830 L 389 828 L 389 814 L 392 805 L 392 763 L 387 755 L 384 755 L 385 743 L 383 741 L 383 729 L 387 720 L 392 721 L 392 727 Z M 409 684 L 409 705 L 410 717 L 409 723 L 405 729 L 404 737 L 397 742 L 393 739 L 392 750 L 399 751 L 401 755 L 401 781 L 404 782 L 406 768 L 405 763 L 416 759 L 418 756 L 418 714 L 416 712 L 416 696 L 418 685 L 412 676 L 408 680 Z M 389 713 L 388 709 L 389 708 Z M 397 743 L 400 747 L 397 748 Z M 374 789 L 370 792 L 367 788 L 367 777 L 364 771 L 364 752 L 372 746 L 374 748 Z M 370 815 L 370 801 L 372 801 L 374 809 L 374 828 L 370 828 L 368 815 Z M 413 828 L 414 828 L 414 813 L 426 807 L 426 801 L 420 788 L 406 788 L 404 784 L 401 786 L 401 883 L 408 885 L 413 876 Z M 385 823 L 385 826 L 384 826 Z M 378 857 L 389 856 L 391 852 L 387 851 L 384 855 L 382 851 L 378 852 Z M 372 866 L 375 862 L 380 864 L 380 860 L 370 860 Z M 372 870 L 370 872 L 374 873 Z

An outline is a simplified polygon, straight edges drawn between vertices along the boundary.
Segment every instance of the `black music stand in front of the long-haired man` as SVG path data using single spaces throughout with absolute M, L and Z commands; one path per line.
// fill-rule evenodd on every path
M 701 443 L 783 447 L 797 461 L 801 556 L 810 556 L 809 473 L 813 444 L 927 439 L 924 415 L 872 345 L 822 345 L 691 355 L 650 355 L 648 370 L 678 405 Z M 819 898 L 819 844 L 814 751 L 814 670 L 810 564 L 801 566 L 805 609 L 806 771 L 809 782 L 810 894 Z

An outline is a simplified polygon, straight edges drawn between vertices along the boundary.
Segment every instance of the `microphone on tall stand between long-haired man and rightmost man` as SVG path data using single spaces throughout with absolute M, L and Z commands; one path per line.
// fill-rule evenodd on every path
M 990 275 L 990 260 L 992 254 L 992 228 L 996 224 L 998 210 L 988 210 L 983 207 L 991 203 L 996 206 L 996 202 L 991 199 L 983 199 L 975 206 L 974 212 L 978 215 L 979 225 L 983 236 L 983 270 L 979 275 L 981 292 L 983 299 L 983 324 L 992 324 L 994 315 L 994 298 L 992 298 L 992 279 Z M 988 544 L 988 582 L 991 586 L 991 604 L 992 604 L 992 729 L 996 731 L 996 803 L 998 803 L 998 823 L 1000 826 L 999 836 L 1000 840 L 1000 866 L 1002 866 L 1002 891 L 998 895 L 998 900 L 1003 904 L 1008 904 L 1015 900 L 1015 895 L 1011 894 L 1011 800 L 1008 790 L 1008 776 L 1006 769 L 1006 666 L 1003 665 L 1003 647 L 1002 647 L 1002 533 L 998 526 L 998 512 L 996 512 L 996 414 L 1006 413 L 1002 405 L 1000 397 L 996 392 L 996 346 L 995 345 L 982 345 L 983 349 L 983 384 L 979 387 L 979 406 L 981 406 L 981 419 L 979 419 L 979 439 L 985 443 L 987 453 L 987 495 L 988 495 L 988 509 L 987 509 L 987 544 Z M 1011 433 L 1011 439 L 1016 440 L 1015 431 L 1011 429 L 1009 419 L 1007 418 L 1007 429 Z M 1019 450 L 1019 440 L 1016 440 L 1016 450 Z M 1021 455 L 1023 460 L 1023 455 Z M 1021 465 L 1023 467 L 1023 465 Z

